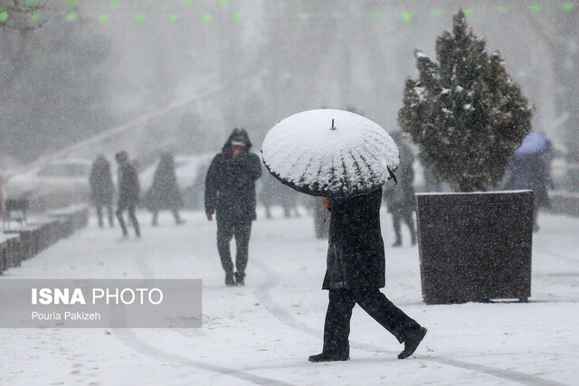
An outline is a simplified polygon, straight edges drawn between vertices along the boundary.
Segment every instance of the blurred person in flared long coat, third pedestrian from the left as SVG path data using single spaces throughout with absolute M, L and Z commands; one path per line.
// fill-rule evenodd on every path
M 168 209 L 173 212 L 176 224 L 185 221 L 179 216 L 179 208 L 183 205 L 181 191 L 175 174 L 175 158 L 170 153 L 161 155 L 161 162 L 157 166 L 153 184 L 145 195 L 145 202 L 149 211 L 153 212 L 153 226 L 158 225 L 159 211 Z

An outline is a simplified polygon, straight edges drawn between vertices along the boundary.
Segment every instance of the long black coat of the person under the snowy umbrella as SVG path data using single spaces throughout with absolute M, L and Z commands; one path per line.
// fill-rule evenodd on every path
M 382 189 L 333 199 L 324 289 L 381 288 L 385 284 L 380 230 Z

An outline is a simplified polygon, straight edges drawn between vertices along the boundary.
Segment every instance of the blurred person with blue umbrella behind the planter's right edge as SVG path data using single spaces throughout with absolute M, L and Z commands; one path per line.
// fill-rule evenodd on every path
M 549 208 L 548 187 L 553 186 L 550 173 L 551 142 L 540 131 L 532 131 L 517 147 L 507 169 L 505 189 L 533 191 L 533 231 L 538 231 L 539 207 Z

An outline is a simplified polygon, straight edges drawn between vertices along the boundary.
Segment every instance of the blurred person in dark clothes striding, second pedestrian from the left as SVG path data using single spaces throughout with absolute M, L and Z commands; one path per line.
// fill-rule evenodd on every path
M 127 152 L 119 152 L 115 155 L 119 164 L 119 202 L 117 202 L 117 218 L 120 228 L 123 230 L 123 239 L 128 238 L 127 226 L 123 220 L 123 212 L 128 211 L 128 219 L 132 222 L 136 236 L 140 239 L 141 233 L 138 227 L 135 209 L 138 205 L 140 187 L 138 184 L 138 174 L 135 166 L 128 162 Z

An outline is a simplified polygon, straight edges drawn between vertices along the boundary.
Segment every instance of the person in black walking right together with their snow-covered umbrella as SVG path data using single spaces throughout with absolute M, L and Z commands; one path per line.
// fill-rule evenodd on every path
M 289 137 L 294 138 L 292 148 Z M 382 185 L 398 165 L 394 140 L 369 119 L 322 109 L 282 120 L 268 133 L 261 152 L 271 174 L 299 192 L 324 196 L 323 205 L 331 212 L 322 286 L 329 290 L 324 347 L 309 361 L 349 359 L 356 303 L 404 344 L 399 359 L 412 355 L 426 328 L 380 292 L 385 284 L 380 205 Z

